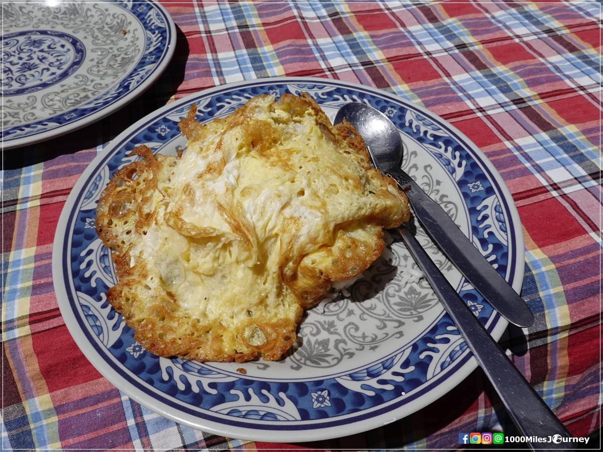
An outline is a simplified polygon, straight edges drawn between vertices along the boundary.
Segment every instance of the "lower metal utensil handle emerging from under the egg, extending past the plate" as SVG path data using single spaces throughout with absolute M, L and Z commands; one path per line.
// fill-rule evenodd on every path
M 398 231 L 519 430 L 525 436 L 548 439 L 548 442 L 531 441 L 530 447 L 568 450 L 571 443 L 563 442 L 561 438 L 572 435 L 485 330 L 411 231 L 406 227 L 400 227 Z M 557 444 L 553 436 L 559 441 Z

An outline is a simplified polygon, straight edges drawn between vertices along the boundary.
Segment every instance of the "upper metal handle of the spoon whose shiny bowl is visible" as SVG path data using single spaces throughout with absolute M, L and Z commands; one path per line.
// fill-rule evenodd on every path
M 414 215 L 467 281 L 500 315 L 520 327 L 534 323 L 534 315 L 499 272 L 459 230 L 440 204 L 429 197 L 402 169 L 390 173 L 408 196 Z M 523 246 L 523 243 L 519 244 Z

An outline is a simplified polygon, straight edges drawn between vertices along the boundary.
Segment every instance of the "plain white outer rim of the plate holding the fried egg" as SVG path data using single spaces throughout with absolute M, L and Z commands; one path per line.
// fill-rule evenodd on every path
M 519 213 L 517 212 L 517 207 L 511 196 L 510 191 L 508 190 L 507 185 L 505 184 L 504 179 L 500 176 L 499 172 L 496 170 L 494 165 L 490 162 L 488 157 L 484 154 L 475 143 L 472 142 L 467 136 L 465 136 L 461 131 L 459 131 L 454 125 L 450 124 L 449 121 L 441 118 L 439 115 L 435 115 L 431 111 L 423 108 L 421 105 L 417 105 L 416 102 L 411 99 L 404 99 L 402 96 L 397 96 L 393 93 L 386 92 L 384 90 L 380 90 L 370 86 L 364 86 L 358 83 L 351 83 L 347 81 L 341 80 L 333 80 L 330 78 L 323 77 L 270 77 L 270 78 L 260 78 L 256 80 L 242 80 L 229 84 L 223 84 L 216 87 L 212 87 L 210 89 L 200 90 L 198 92 L 192 93 L 191 95 L 185 96 L 183 98 L 178 99 L 177 101 L 170 102 L 169 104 L 163 105 L 163 107 L 157 108 L 157 110 L 152 111 L 149 115 L 146 115 L 144 118 L 139 119 L 134 124 L 130 125 L 130 127 L 126 128 L 122 133 L 115 137 L 112 142 L 107 145 L 101 154 L 96 155 L 95 159 L 89 163 L 87 168 L 84 170 L 83 174 L 81 174 L 80 178 L 78 178 L 77 183 L 72 189 L 68 199 L 65 202 L 65 206 L 63 207 L 62 213 L 57 223 L 57 231 L 55 232 L 54 244 L 52 249 L 52 271 L 53 275 L 55 272 L 60 271 L 61 274 L 63 272 L 62 268 L 62 248 L 63 248 L 63 235 L 65 235 L 65 225 L 67 224 L 69 214 L 71 213 L 72 207 L 74 205 L 74 199 L 77 198 L 78 193 L 83 189 L 83 185 L 86 181 L 86 178 L 89 177 L 94 171 L 94 167 L 98 166 L 98 163 L 101 162 L 108 154 L 115 151 L 115 149 L 121 145 L 121 142 L 124 139 L 127 139 L 128 136 L 131 136 L 134 132 L 140 129 L 142 125 L 149 121 L 151 116 L 157 116 L 162 113 L 165 113 L 174 108 L 180 107 L 181 105 L 186 104 L 189 99 L 198 97 L 200 94 L 204 96 L 210 96 L 214 92 L 224 91 L 224 90 L 232 90 L 237 89 L 242 86 L 249 85 L 261 85 L 267 83 L 276 83 L 276 84 L 287 84 L 287 83 L 308 83 L 308 84 L 329 84 L 335 83 L 339 84 L 339 86 L 349 87 L 350 89 L 358 89 L 361 91 L 372 92 L 377 96 L 381 97 L 389 97 L 400 104 L 410 104 L 413 108 L 416 108 L 418 111 L 424 113 L 428 118 L 432 116 L 436 116 L 440 121 L 446 123 L 447 127 L 450 128 L 450 131 L 455 133 L 459 139 L 463 140 L 466 145 L 472 149 L 475 154 L 480 155 L 482 158 L 478 162 L 479 165 L 482 166 L 482 170 L 487 169 L 493 177 L 493 180 L 497 182 L 497 189 L 500 192 L 500 195 L 504 197 L 507 201 L 508 213 L 510 214 L 510 220 L 513 222 L 513 236 L 516 239 L 516 254 L 517 257 L 515 262 L 513 263 L 514 269 L 510 266 L 510 272 L 508 272 L 508 277 L 513 278 L 513 289 L 516 290 L 517 293 L 520 292 L 522 283 L 523 283 L 523 266 L 518 265 L 518 263 L 525 262 L 525 249 L 524 249 L 524 241 L 523 241 L 523 228 L 521 227 L 521 222 L 519 218 Z M 68 206 L 70 206 L 68 208 Z M 60 267 L 57 269 L 57 266 Z M 226 436 L 228 438 L 237 438 L 237 439 L 250 439 L 251 441 L 283 441 L 283 442 L 305 442 L 305 441 L 318 441 L 323 439 L 332 439 L 339 438 L 341 436 L 353 435 L 355 433 L 365 432 L 367 430 L 371 430 L 376 427 L 380 427 L 385 425 L 383 419 L 381 419 L 384 415 L 388 418 L 399 420 L 405 416 L 409 416 L 412 413 L 422 409 L 423 407 L 428 406 L 433 403 L 438 398 L 442 397 L 444 394 L 458 386 L 461 381 L 463 381 L 473 370 L 477 368 L 477 362 L 474 357 L 469 357 L 466 359 L 464 363 L 462 363 L 454 372 L 453 369 L 447 368 L 441 372 L 440 378 L 434 378 L 432 384 L 435 384 L 434 388 L 428 388 L 425 394 L 420 395 L 417 399 L 412 401 L 409 404 L 406 404 L 406 410 L 408 411 L 408 406 L 413 406 L 418 404 L 419 406 L 412 409 L 410 412 L 402 413 L 401 416 L 395 417 L 396 410 L 401 411 L 402 407 L 394 408 L 393 410 L 388 411 L 387 413 L 383 413 L 377 416 L 373 416 L 368 419 L 362 419 L 359 421 L 353 422 L 343 422 L 342 427 L 347 427 L 345 431 L 341 433 L 329 433 L 333 430 L 330 427 L 318 427 L 318 428 L 302 428 L 295 429 L 295 426 L 288 425 L 285 429 L 283 428 L 270 428 L 270 429 L 262 429 L 262 428 L 242 428 L 236 427 L 235 425 L 229 425 L 227 423 L 221 424 L 219 422 L 210 421 L 201 416 L 195 416 L 195 419 L 190 419 L 188 413 L 180 413 L 177 409 L 172 409 L 172 407 L 164 407 L 161 401 L 158 401 L 156 398 L 150 398 L 148 395 L 144 394 L 144 392 L 140 391 L 140 389 L 136 388 L 129 381 L 124 380 L 115 369 L 110 368 L 104 362 L 104 359 L 98 355 L 96 350 L 89 341 L 87 341 L 86 337 L 83 336 L 83 333 L 80 330 L 77 319 L 75 315 L 72 313 L 71 309 L 66 309 L 66 307 L 62 307 L 62 303 L 65 303 L 65 300 L 68 300 L 68 294 L 65 287 L 65 284 L 58 284 L 60 278 L 53 277 L 53 283 L 55 288 L 55 293 L 57 295 L 57 303 L 59 304 L 59 308 L 63 315 L 63 319 L 65 320 L 65 324 L 69 330 L 69 333 L 74 338 L 74 341 L 83 351 L 84 356 L 92 363 L 92 365 L 103 375 L 107 380 L 112 383 L 119 391 L 122 391 L 125 395 L 135 400 L 137 403 L 140 403 L 142 406 L 147 407 L 153 412 L 159 413 L 160 415 L 172 419 L 172 421 L 179 422 L 181 424 L 188 425 L 189 427 L 203 430 L 206 432 L 214 433 L 216 435 Z M 62 280 L 61 280 L 62 281 Z M 64 300 L 62 303 L 59 303 L 59 299 Z M 66 315 L 67 314 L 67 315 Z M 508 322 L 506 319 L 502 318 L 498 313 L 494 316 L 491 316 L 488 321 L 489 324 L 491 322 L 496 321 L 496 325 L 491 331 L 491 335 L 494 339 L 500 339 L 502 333 L 507 328 Z M 76 337 L 80 337 L 80 341 L 76 340 Z M 81 339 L 84 341 L 81 341 Z M 83 344 L 82 344 L 83 342 Z M 464 351 L 463 355 L 459 359 L 466 358 L 469 354 L 469 350 Z M 452 366 L 451 366 L 452 367 Z M 101 371 L 103 369 L 103 371 Z M 445 378 L 444 378 L 445 377 Z M 444 378 L 444 381 L 442 381 Z M 116 384 L 117 383 L 117 384 Z M 187 418 L 188 416 L 188 418 Z M 195 422 L 196 420 L 196 422 Z M 353 427 L 352 427 L 353 426 Z M 274 425 L 277 427 L 277 425 Z M 308 438 L 308 434 L 312 432 L 312 437 Z

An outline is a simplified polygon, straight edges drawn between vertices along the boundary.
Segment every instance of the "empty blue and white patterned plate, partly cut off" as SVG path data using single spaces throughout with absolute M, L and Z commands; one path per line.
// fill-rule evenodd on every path
M 36 143 L 104 118 L 147 89 L 175 49 L 150 0 L 2 3 L 2 142 Z

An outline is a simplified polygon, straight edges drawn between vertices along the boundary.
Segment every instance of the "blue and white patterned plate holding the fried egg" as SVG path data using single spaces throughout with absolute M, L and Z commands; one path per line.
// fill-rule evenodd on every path
M 110 252 L 94 229 L 101 190 L 136 145 L 175 154 L 177 123 L 191 104 L 210 121 L 253 96 L 309 93 L 333 118 L 347 102 L 383 111 L 406 146 L 403 168 L 436 199 L 519 291 L 523 237 L 513 199 L 484 154 L 443 119 L 364 86 L 320 78 L 271 78 L 216 87 L 166 105 L 128 128 L 86 169 L 66 202 L 52 256 L 57 300 L 86 357 L 134 400 L 174 421 L 234 438 L 309 441 L 362 432 L 408 416 L 475 369 L 458 331 L 404 246 L 387 249 L 350 296 L 310 310 L 280 362 L 198 363 L 154 356 L 113 311 Z M 476 316 L 498 339 L 507 321 L 440 254 L 425 246 Z M 245 375 L 238 372 L 244 368 Z

